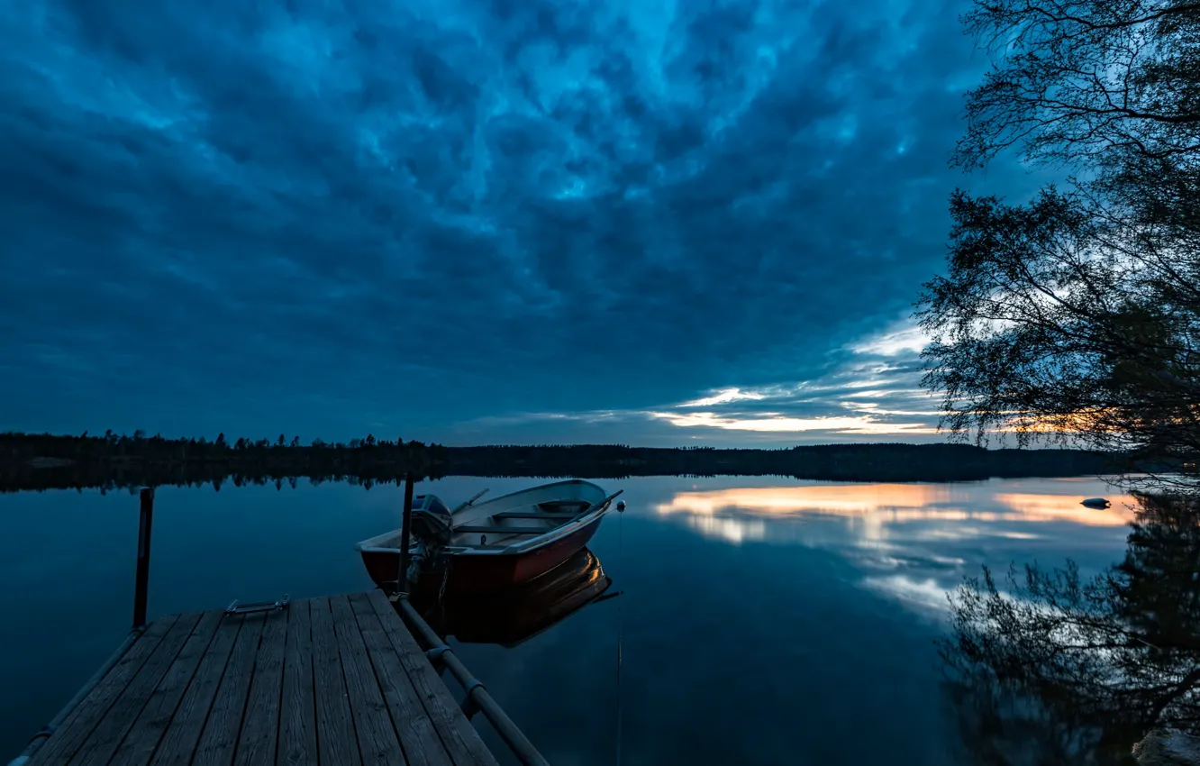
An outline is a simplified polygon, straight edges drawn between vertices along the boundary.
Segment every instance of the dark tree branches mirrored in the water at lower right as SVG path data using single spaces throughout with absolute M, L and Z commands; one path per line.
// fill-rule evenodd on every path
M 1146 732 L 1200 734 L 1200 496 L 1139 495 L 1126 558 L 984 569 L 952 594 L 947 690 L 979 764 L 1129 764 Z

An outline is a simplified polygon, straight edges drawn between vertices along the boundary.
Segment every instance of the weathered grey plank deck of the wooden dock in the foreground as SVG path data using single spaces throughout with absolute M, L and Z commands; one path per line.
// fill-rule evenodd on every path
M 148 624 L 32 765 L 494 765 L 380 592 Z

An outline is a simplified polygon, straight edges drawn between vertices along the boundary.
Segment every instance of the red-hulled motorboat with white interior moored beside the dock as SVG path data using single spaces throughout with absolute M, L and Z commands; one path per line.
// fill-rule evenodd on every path
M 413 565 L 416 591 L 500 591 L 528 582 L 578 552 L 595 534 L 620 492 L 581 479 L 554 481 L 500 497 L 462 503 L 452 511 L 436 495 L 413 501 Z M 400 529 L 359 543 L 371 579 L 379 586 L 400 575 Z

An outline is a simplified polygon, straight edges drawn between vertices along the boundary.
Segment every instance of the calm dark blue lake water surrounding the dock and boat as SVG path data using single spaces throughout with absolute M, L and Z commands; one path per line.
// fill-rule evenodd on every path
M 540 481 L 416 491 L 452 504 Z M 947 590 L 980 564 L 1070 557 L 1099 570 L 1121 558 L 1132 519 L 1094 479 L 596 483 L 628 503 L 589 546 L 620 596 L 511 648 L 450 641 L 562 766 L 614 764 L 618 712 L 629 766 L 962 764 L 932 644 Z M 1079 504 L 1094 496 L 1114 507 Z M 395 485 L 160 487 L 150 614 L 366 590 L 354 544 L 398 526 L 401 504 Z M 0 762 L 125 638 L 137 525 L 124 491 L 0 495 Z

